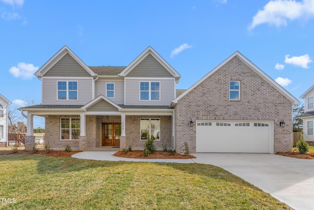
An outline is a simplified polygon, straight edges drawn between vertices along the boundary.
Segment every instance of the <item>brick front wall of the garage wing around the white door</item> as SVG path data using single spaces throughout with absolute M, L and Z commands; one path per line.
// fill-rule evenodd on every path
M 240 81 L 240 100 L 229 99 L 229 81 Z M 292 149 L 291 102 L 237 57 L 181 98 L 176 107 L 177 152 L 196 152 L 196 125 L 189 120 L 272 120 L 274 152 Z M 278 121 L 284 120 L 285 127 Z

